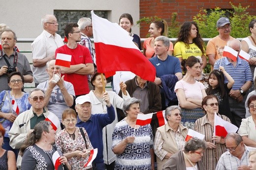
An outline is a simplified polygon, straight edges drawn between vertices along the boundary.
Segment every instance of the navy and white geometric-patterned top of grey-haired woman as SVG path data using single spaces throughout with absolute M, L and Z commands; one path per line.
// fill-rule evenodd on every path
M 135 136 L 135 140 L 127 144 L 122 154 L 117 155 L 115 170 L 151 170 L 153 135 L 150 124 L 134 129 L 125 119 L 121 120 L 112 135 L 112 148 L 128 136 Z

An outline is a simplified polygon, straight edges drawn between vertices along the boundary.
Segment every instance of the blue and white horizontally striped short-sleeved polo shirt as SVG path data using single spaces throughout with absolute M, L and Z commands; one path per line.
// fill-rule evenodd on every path
M 241 88 L 247 81 L 253 82 L 253 76 L 249 63 L 240 57 L 237 57 L 235 67 L 227 60 L 226 57 L 218 59 L 214 64 L 214 69 L 219 70 L 220 66 L 224 66 L 225 71 L 234 79 L 235 83 L 232 87 L 233 90 Z M 224 83 L 228 83 L 226 77 Z

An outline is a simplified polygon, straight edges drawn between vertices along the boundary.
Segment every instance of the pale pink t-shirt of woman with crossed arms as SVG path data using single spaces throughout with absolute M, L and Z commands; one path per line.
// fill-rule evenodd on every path
M 174 87 L 174 91 L 177 92 L 177 89 L 183 89 L 185 93 L 186 99 L 192 98 L 192 99 L 203 99 L 203 93 L 202 89 L 205 89 L 205 86 L 197 81 L 194 81 L 194 84 L 189 84 L 185 82 L 184 80 L 180 80 L 176 83 Z

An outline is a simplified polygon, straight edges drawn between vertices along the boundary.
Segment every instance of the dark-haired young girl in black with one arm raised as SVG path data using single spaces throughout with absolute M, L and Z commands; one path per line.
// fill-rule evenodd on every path
M 224 76 L 226 77 L 228 83 L 224 83 Z M 219 70 L 213 70 L 209 75 L 209 87 L 206 89 L 206 94 L 213 94 L 217 96 L 219 100 L 219 113 L 227 116 L 231 122 L 233 122 L 232 115 L 230 113 L 228 93 L 230 92 L 235 81 L 233 78 L 225 71 L 223 66 L 220 66 Z

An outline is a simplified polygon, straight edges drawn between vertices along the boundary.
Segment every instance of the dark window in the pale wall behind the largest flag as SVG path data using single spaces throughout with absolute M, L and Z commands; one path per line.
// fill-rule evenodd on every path
M 107 19 L 108 11 L 94 11 L 94 13 L 101 17 Z M 68 23 L 77 23 L 82 17 L 92 18 L 91 10 L 54 10 L 54 15 L 59 23 L 58 34 L 64 38 L 64 28 Z

